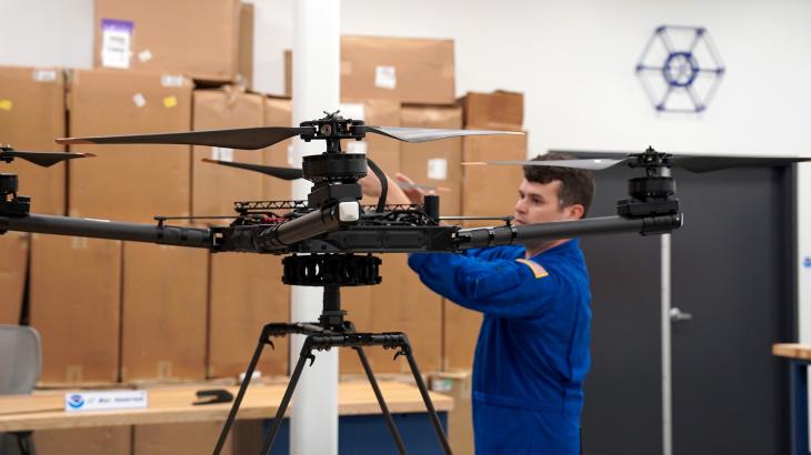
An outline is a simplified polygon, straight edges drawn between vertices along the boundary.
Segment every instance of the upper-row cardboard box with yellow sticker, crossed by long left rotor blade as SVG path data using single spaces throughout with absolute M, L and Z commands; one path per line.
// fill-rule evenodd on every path
M 72 136 L 190 131 L 191 81 L 77 70 L 69 108 Z M 154 215 L 190 214 L 191 146 L 73 145 L 71 151 L 97 155 L 70 163 L 71 216 L 151 222 Z

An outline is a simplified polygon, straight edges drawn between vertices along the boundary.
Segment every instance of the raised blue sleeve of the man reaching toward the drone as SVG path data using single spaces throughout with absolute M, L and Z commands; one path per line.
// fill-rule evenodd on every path
M 539 316 L 561 292 L 572 291 L 554 264 L 540 265 L 547 274 L 537 277 L 530 265 L 515 260 L 451 253 L 409 256 L 409 266 L 438 294 L 470 310 L 502 317 Z

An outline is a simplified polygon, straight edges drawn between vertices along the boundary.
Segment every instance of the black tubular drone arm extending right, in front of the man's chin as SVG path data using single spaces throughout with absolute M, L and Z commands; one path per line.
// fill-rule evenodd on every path
M 457 245 L 461 250 L 467 250 L 620 232 L 660 234 L 681 228 L 681 214 L 671 214 L 640 218 L 603 216 L 518 226 L 472 228 L 459 231 Z

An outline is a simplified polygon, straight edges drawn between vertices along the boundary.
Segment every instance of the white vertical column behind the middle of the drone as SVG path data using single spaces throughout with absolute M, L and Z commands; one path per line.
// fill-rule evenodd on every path
M 293 124 L 338 110 L 340 100 L 340 1 L 296 0 L 293 13 Z M 294 156 L 321 153 L 323 141 L 293 141 Z M 307 199 L 311 184 L 293 183 L 293 199 Z M 318 321 L 321 287 L 293 286 L 292 321 Z M 290 371 L 299 360 L 303 336 L 290 343 Z M 317 352 L 313 366 L 304 367 L 293 395 L 290 453 L 338 454 L 338 350 Z M 309 362 L 308 362 L 309 365 Z

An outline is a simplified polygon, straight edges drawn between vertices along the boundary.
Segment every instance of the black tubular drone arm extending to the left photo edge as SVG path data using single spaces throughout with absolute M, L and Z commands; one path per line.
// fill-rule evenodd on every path
M 120 223 L 104 220 L 39 214 L 24 216 L 0 215 L 0 233 L 4 233 L 6 231 L 124 240 L 204 249 L 210 249 L 213 242 L 211 232 L 208 229 Z

